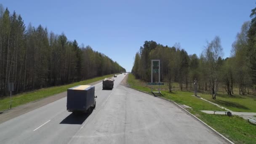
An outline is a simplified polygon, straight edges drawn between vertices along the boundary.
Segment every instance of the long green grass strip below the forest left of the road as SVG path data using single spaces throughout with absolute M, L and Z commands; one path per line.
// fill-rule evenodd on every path
M 31 101 L 36 101 L 38 99 L 43 99 L 48 96 L 52 96 L 54 94 L 67 91 L 68 88 L 72 88 L 76 85 L 86 85 L 88 83 L 93 83 L 98 80 L 102 80 L 105 77 L 112 77 L 112 76 L 113 76 L 113 74 L 112 75 L 104 75 L 102 77 L 95 77 L 92 79 L 83 80 L 83 81 L 71 83 L 68 85 L 54 86 L 54 87 L 50 87 L 50 88 L 42 88 L 42 89 L 31 91 L 31 92 L 20 93 L 20 94 L 13 96 L 12 107 L 17 107 L 21 104 L 26 104 Z M 11 99 L 9 96 L 4 99 L 0 99 L 0 111 L 3 111 L 10 107 L 10 100 Z

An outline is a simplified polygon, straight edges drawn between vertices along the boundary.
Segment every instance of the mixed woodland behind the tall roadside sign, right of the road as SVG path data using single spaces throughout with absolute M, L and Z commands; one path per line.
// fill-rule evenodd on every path
M 234 88 L 240 95 L 256 92 L 256 8 L 251 10 L 251 21 L 245 21 L 232 44 L 231 56 L 223 59 L 221 39 L 216 36 L 205 44 L 204 51 L 197 56 L 188 55 L 176 43 L 172 47 L 145 41 L 135 55 L 132 73 L 137 79 L 151 81 L 151 60 L 160 59 L 161 81 L 168 82 L 172 91 L 173 82 L 179 83 L 181 91 L 193 87 L 194 80 L 200 90 L 210 91 L 212 98 L 223 88 L 233 95 Z M 157 73 L 154 82 L 158 81 Z

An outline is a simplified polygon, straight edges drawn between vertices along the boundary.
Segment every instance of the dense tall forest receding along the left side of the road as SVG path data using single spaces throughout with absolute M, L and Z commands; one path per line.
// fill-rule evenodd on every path
M 19 93 L 121 71 L 103 53 L 41 25 L 26 27 L 20 15 L 0 5 L 0 96 L 7 94 L 8 82 Z

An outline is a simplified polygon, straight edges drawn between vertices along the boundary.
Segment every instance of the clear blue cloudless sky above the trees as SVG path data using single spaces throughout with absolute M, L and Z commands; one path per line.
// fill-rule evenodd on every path
M 1 0 L 21 14 L 26 25 L 39 24 L 69 40 L 90 45 L 131 71 L 145 40 L 180 43 L 199 55 L 216 35 L 224 57 L 256 0 Z

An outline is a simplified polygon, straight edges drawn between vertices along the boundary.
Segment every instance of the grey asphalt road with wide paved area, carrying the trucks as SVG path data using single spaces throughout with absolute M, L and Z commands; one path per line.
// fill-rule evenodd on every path
M 66 97 L 0 124 L 0 144 L 223 144 L 176 105 L 120 85 L 95 85 L 91 114 L 66 110 Z M 62 93 L 66 95 L 67 93 Z

